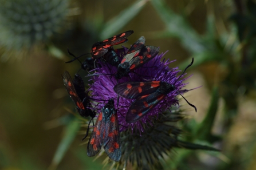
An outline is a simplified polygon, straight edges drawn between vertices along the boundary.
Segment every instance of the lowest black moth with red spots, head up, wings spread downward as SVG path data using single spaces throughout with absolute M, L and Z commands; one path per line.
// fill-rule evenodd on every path
M 90 135 L 87 145 L 87 155 L 96 155 L 102 145 L 111 160 L 119 161 L 121 159 L 119 122 L 113 99 L 110 99 L 101 109 L 92 134 Z

